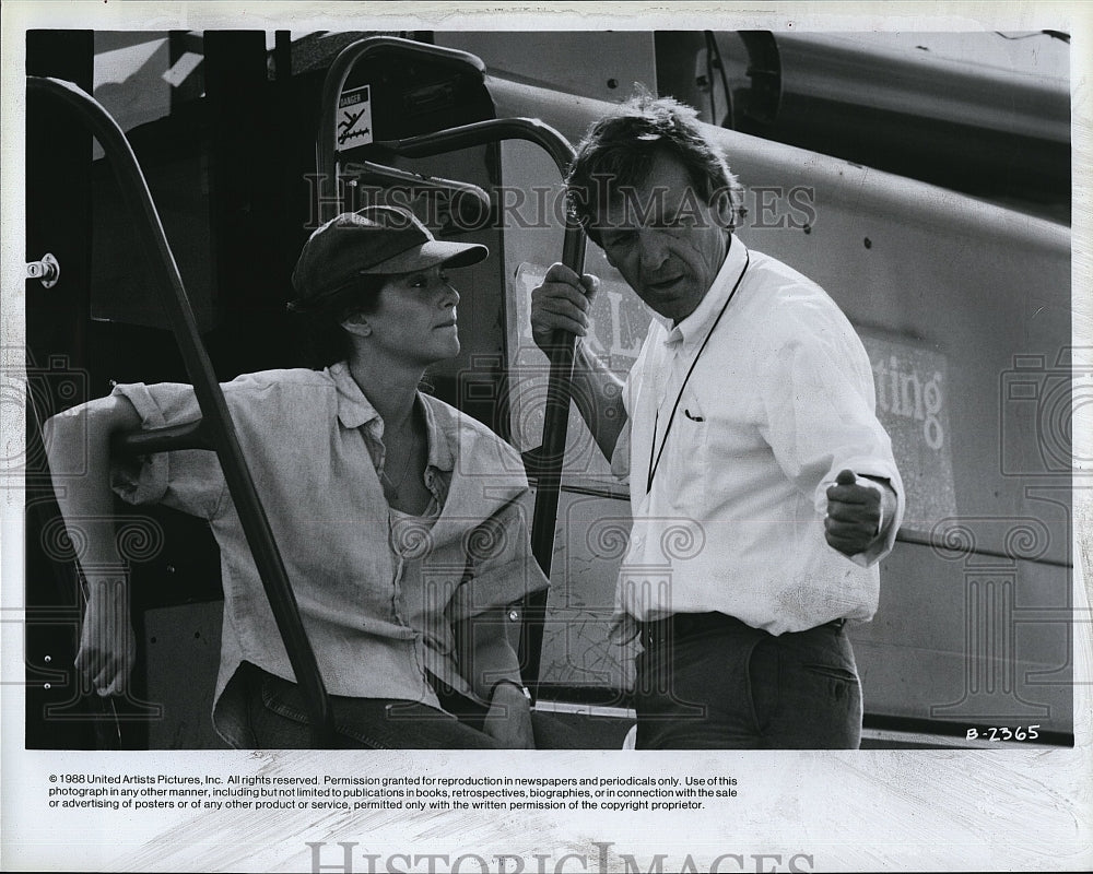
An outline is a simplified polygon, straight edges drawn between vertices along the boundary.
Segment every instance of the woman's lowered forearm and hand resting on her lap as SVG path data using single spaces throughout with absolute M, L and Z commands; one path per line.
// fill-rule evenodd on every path
M 531 702 L 524 693 L 519 660 L 508 642 L 508 611 L 494 607 L 459 623 L 457 638 L 469 645 L 463 676 L 474 693 L 490 702 L 485 733 L 502 746 L 533 749 Z

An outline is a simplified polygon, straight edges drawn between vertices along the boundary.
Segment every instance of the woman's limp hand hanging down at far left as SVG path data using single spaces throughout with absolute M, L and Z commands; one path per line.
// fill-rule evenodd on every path
M 101 696 L 124 695 L 137 660 L 137 637 L 129 619 L 128 588 L 124 579 L 87 584 L 87 606 L 80 631 L 77 670 L 84 688 Z

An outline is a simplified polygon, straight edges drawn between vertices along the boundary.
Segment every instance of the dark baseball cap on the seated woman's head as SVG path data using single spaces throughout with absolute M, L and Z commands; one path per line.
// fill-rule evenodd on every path
M 289 309 L 312 309 L 359 276 L 397 275 L 444 264 L 468 267 L 490 255 L 477 243 L 436 239 L 409 210 L 368 206 L 343 212 L 312 234 L 292 271 L 296 299 Z

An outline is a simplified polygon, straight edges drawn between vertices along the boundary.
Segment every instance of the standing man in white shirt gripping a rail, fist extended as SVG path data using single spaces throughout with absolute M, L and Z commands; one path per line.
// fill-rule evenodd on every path
M 573 209 L 654 321 L 625 385 L 585 335 L 597 280 L 532 294 L 578 335 L 574 398 L 628 472 L 613 634 L 639 636 L 638 748 L 856 748 L 845 633 L 877 609 L 903 485 L 869 361 L 818 285 L 732 234 L 740 187 L 693 110 L 639 97 L 580 143 Z

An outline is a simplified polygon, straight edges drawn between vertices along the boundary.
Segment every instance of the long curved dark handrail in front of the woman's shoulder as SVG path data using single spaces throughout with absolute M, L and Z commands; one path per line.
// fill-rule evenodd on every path
M 134 215 L 143 218 L 137 222 L 137 233 L 149 256 L 153 285 L 163 290 L 163 304 L 171 317 L 175 339 L 201 408 L 202 428 L 215 447 L 289 661 L 296 682 L 303 689 L 313 744 L 319 748 L 329 747 L 333 739 L 333 719 L 315 652 L 304 630 L 284 563 L 239 447 L 224 393 L 216 382 L 212 364 L 198 334 L 186 288 L 137 156 L 110 114 L 94 97 L 71 82 L 27 76 L 26 86 L 27 94 L 46 95 L 75 109 L 110 157 L 127 205 Z

